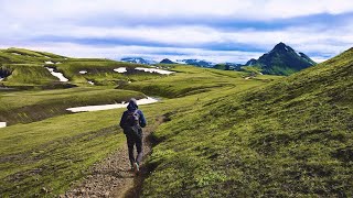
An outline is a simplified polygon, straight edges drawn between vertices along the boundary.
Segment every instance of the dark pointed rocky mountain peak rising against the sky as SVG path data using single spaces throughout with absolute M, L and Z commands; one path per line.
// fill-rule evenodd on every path
M 288 76 L 315 64 L 306 54 L 279 43 L 258 59 L 248 61 L 245 66 L 258 67 L 264 74 Z

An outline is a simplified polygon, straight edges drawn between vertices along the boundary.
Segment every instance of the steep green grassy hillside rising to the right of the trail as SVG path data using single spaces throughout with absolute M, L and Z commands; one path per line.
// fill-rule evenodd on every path
M 174 113 L 154 133 L 147 197 L 352 197 L 353 50 Z

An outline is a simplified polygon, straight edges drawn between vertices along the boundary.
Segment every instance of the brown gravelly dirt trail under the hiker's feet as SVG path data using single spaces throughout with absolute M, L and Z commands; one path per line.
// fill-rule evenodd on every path
M 143 161 L 151 152 L 148 136 L 162 122 L 163 118 L 158 118 L 153 125 L 143 130 Z M 138 176 L 130 170 L 128 147 L 125 144 L 115 154 L 92 167 L 90 175 L 61 197 L 139 197 L 141 183 L 146 175 L 147 169 L 143 162 Z

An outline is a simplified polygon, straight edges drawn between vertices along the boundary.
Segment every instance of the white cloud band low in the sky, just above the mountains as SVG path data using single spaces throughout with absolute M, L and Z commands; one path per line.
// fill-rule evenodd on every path
M 222 31 L 204 26 L 171 26 L 171 28 L 87 28 L 87 26 L 47 26 L 44 31 L 32 28 L 25 36 L 67 36 L 69 38 L 126 38 L 131 41 L 148 41 L 162 44 L 203 45 L 248 44 L 259 48 L 270 50 L 275 44 L 285 42 L 304 53 L 322 52 L 336 54 L 342 48 L 353 45 L 353 25 L 342 29 L 322 31 L 315 28 L 288 28 L 276 31 Z M 332 42 L 334 41 L 334 42 Z M 338 43 L 340 45 L 338 45 Z

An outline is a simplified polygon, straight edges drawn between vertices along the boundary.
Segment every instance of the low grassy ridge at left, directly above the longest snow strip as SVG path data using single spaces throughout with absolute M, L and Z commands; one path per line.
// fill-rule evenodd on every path
M 0 120 L 8 124 L 29 123 L 68 113 L 67 108 L 119 103 L 132 97 L 140 99 L 146 96 L 107 87 L 0 92 Z

